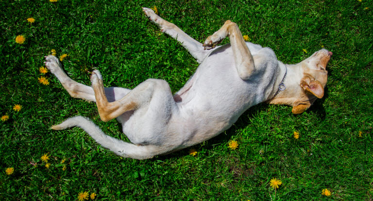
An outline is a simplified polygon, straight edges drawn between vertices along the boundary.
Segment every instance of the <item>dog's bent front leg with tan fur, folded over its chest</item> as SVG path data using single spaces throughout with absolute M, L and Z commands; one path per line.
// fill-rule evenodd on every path
M 203 46 L 205 49 L 212 49 L 227 36 L 231 41 L 239 77 L 249 79 L 255 70 L 254 59 L 236 23 L 231 20 L 225 21 L 220 30 L 207 37 Z

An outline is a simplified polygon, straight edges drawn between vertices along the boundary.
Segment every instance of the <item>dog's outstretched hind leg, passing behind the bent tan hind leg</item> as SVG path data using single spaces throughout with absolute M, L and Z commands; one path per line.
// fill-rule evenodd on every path
M 66 75 L 66 73 L 63 71 L 61 63 L 58 61 L 57 57 L 48 55 L 45 58 L 45 66 L 54 76 L 57 77 L 62 86 L 64 86 L 66 91 L 68 91 L 72 97 L 96 102 L 95 93 L 92 87 L 78 83 L 68 77 L 68 75 Z M 129 89 L 119 87 L 104 88 L 104 90 L 109 102 L 118 100 L 131 91 Z

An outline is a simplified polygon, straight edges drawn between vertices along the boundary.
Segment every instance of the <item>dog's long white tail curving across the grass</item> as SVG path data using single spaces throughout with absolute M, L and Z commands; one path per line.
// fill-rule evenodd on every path
M 93 139 L 100 143 L 103 147 L 110 149 L 117 155 L 127 158 L 147 159 L 158 155 L 159 148 L 152 145 L 137 146 L 132 143 L 112 138 L 102 132 L 100 127 L 94 124 L 90 119 L 76 116 L 65 120 L 62 124 L 53 125 L 53 130 L 63 130 L 66 128 L 78 126 L 87 132 Z

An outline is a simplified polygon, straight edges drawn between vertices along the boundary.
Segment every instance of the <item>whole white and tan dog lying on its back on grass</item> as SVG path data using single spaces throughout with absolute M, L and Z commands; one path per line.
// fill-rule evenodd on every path
M 195 74 L 173 95 L 169 84 L 160 79 L 147 79 L 133 90 L 104 88 L 98 70 L 92 72 L 92 86 L 86 86 L 69 78 L 56 57 L 46 56 L 46 67 L 68 93 L 96 102 L 102 121 L 117 118 L 132 143 L 105 135 L 82 116 L 51 129 L 78 126 L 117 155 L 147 159 L 217 136 L 256 104 L 290 105 L 292 113 L 299 114 L 324 95 L 325 68 L 332 56 L 326 49 L 300 63 L 284 64 L 271 48 L 245 42 L 237 24 L 230 20 L 201 44 L 152 9 L 142 10 L 200 63 Z M 226 37 L 230 44 L 218 46 Z

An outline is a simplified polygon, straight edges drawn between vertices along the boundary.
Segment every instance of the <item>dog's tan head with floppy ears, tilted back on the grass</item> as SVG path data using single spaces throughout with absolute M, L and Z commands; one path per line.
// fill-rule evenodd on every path
M 271 99 L 272 104 L 286 104 L 293 106 L 291 110 L 294 114 L 300 114 L 308 109 L 317 98 L 324 96 L 324 88 L 328 78 L 326 65 L 328 64 L 332 52 L 321 49 L 304 61 L 289 66 L 287 88 Z M 286 83 L 287 81 L 285 81 Z

